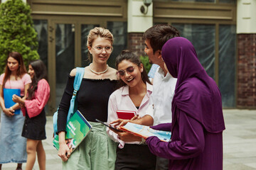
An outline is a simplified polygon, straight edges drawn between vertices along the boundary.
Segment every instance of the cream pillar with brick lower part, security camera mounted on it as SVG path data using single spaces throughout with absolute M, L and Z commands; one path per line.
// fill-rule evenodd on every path
M 153 26 L 153 2 L 146 14 L 140 11 L 141 6 L 144 6 L 142 0 L 128 0 L 128 49 L 137 52 L 139 56 L 145 55 L 142 35 Z

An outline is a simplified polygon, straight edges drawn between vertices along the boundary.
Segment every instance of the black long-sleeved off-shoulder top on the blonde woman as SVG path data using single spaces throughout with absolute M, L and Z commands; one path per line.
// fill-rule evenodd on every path
M 70 99 L 73 94 L 73 83 L 75 77 L 68 77 L 68 83 L 58 110 L 58 132 L 65 131 Z M 78 110 L 82 115 L 92 122 L 95 119 L 107 121 L 107 105 L 110 94 L 114 91 L 117 80 L 110 79 L 82 79 L 77 94 Z

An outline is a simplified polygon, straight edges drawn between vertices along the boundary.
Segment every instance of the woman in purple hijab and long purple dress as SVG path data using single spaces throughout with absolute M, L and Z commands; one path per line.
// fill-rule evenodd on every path
M 178 79 L 170 111 L 173 121 L 152 128 L 171 130 L 171 140 L 161 142 L 157 137 L 148 137 L 149 149 L 169 159 L 169 169 L 223 169 L 225 124 L 218 86 L 186 38 L 167 41 L 162 57 L 171 76 Z

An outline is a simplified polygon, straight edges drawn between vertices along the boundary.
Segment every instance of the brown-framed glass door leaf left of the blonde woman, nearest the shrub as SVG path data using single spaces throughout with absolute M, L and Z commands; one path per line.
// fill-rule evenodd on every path
M 76 23 L 50 21 L 48 28 L 48 79 L 50 83 L 50 112 L 58 108 L 70 71 L 76 60 Z

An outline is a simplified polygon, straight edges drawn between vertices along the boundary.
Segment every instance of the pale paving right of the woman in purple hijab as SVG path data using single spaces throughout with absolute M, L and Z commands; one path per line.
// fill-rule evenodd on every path
M 256 111 L 225 110 L 224 170 L 256 169 Z

